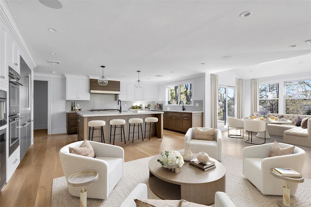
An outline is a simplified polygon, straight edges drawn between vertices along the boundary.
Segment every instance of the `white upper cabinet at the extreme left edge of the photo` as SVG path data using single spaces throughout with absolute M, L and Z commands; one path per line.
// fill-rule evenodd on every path
M 6 64 L 6 33 L 7 30 L 0 21 L 0 86 L 5 91 L 7 91 L 8 89 L 8 67 Z

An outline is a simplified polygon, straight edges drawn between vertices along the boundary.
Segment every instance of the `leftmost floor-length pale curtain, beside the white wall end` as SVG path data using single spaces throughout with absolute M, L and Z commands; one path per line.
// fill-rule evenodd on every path
M 210 127 L 217 128 L 218 75 L 210 74 Z

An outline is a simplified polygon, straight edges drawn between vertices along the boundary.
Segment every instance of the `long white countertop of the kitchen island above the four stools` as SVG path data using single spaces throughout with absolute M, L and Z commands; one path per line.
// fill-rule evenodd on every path
M 92 116 L 124 116 L 124 115 L 138 115 L 138 114 L 160 114 L 164 113 L 163 111 L 151 111 L 151 110 L 141 110 L 138 112 L 133 111 L 106 111 L 106 112 L 92 112 L 92 111 L 77 111 L 77 114 L 83 117 L 92 117 Z

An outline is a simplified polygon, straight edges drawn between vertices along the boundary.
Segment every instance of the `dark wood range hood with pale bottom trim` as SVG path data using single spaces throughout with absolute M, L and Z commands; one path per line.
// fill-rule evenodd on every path
M 120 81 L 108 80 L 107 85 L 99 85 L 97 79 L 89 80 L 89 92 L 93 94 L 121 94 Z

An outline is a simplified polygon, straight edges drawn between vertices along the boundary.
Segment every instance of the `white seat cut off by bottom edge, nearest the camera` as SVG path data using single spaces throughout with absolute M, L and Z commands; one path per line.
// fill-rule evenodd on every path
M 122 202 L 120 207 L 136 207 L 136 203 L 134 199 L 139 199 L 141 201 L 148 201 L 147 199 L 147 185 L 144 183 L 139 183 L 134 190 L 127 196 L 127 198 Z M 155 200 L 150 200 L 155 201 Z M 155 205 L 162 207 L 163 203 L 165 202 L 172 202 L 176 203 L 177 207 L 179 206 L 179 200 L 158 200 L 162 204 Z M 183 200 L 180 200 L 183 201 Z M 182 206 L 187 207 L 187 201 L 183 203 Z M 172 203 L 171 203 L 172 204 Z M 192 204 L 192 205 L 191 205 Z M 165 205 L 165 204 L 164 204 Z M 191 207 L 193 207 L 193 203 L 189 203 Z M 204 205 L 196 205 L 196 206 L 204 206 Z M 230 198 L 225 194 L 225 192 L 217 191 L 215 193 L 215 204 L 214 207 L 235 207 L 233 202 L 230 200 Z

